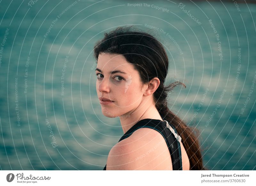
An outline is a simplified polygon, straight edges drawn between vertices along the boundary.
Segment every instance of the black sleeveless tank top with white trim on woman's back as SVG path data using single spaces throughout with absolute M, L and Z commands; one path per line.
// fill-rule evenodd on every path
M 133 125 L 118 142 L 132 135 L 132 133 L 139 128 L 152 128 L 164 137 L 164 140 L 168 146 L 171 159 L 172 159 L 172 170 L 182 170 L 181 160 L 181 137 L 178 136 L 176 129 L 170 125 L 166 120 L 155 120 L 155 119 L 143 119 Z M 106 170 L 107 165 L 103 170 Z

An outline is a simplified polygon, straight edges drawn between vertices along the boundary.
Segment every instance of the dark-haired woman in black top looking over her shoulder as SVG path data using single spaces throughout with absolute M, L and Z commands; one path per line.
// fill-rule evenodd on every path
M 94 57 L 102 113 L 119 117 L 124 131 L 103 170 L 205 170 L 198 130 L 167 107 L 167 95 L 183 83 L 164 86 L 169 61 L 162 44 L 118 27 L 96 43 Z

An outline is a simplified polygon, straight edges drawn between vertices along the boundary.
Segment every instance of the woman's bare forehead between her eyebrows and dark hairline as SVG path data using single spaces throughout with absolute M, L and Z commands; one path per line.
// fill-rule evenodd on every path
M 97 68 L 104 71 L 120 70 L 126 73 L 134 73 L 135 69 L 131 63 L 128 63 L 121 54 L 101 53 L 98 57 Z

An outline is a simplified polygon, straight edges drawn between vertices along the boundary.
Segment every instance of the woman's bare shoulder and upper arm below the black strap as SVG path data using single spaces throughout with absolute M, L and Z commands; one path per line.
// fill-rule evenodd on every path
M 118 142 L 107 160 L 107 170 L 172 170 L 171 165 L 164 137 L 151 128 L 140 128 Z

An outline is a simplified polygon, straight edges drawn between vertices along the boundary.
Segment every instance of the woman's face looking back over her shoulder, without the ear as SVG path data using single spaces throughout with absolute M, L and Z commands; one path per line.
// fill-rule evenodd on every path
M 107 117 L 130 117 L 141 103 L 145 85 L 141 88 L 140 75 L 121 54 L 100 53 L 96 68 L 98 97 L 113 102 L 102 102 L 101 111 Z

